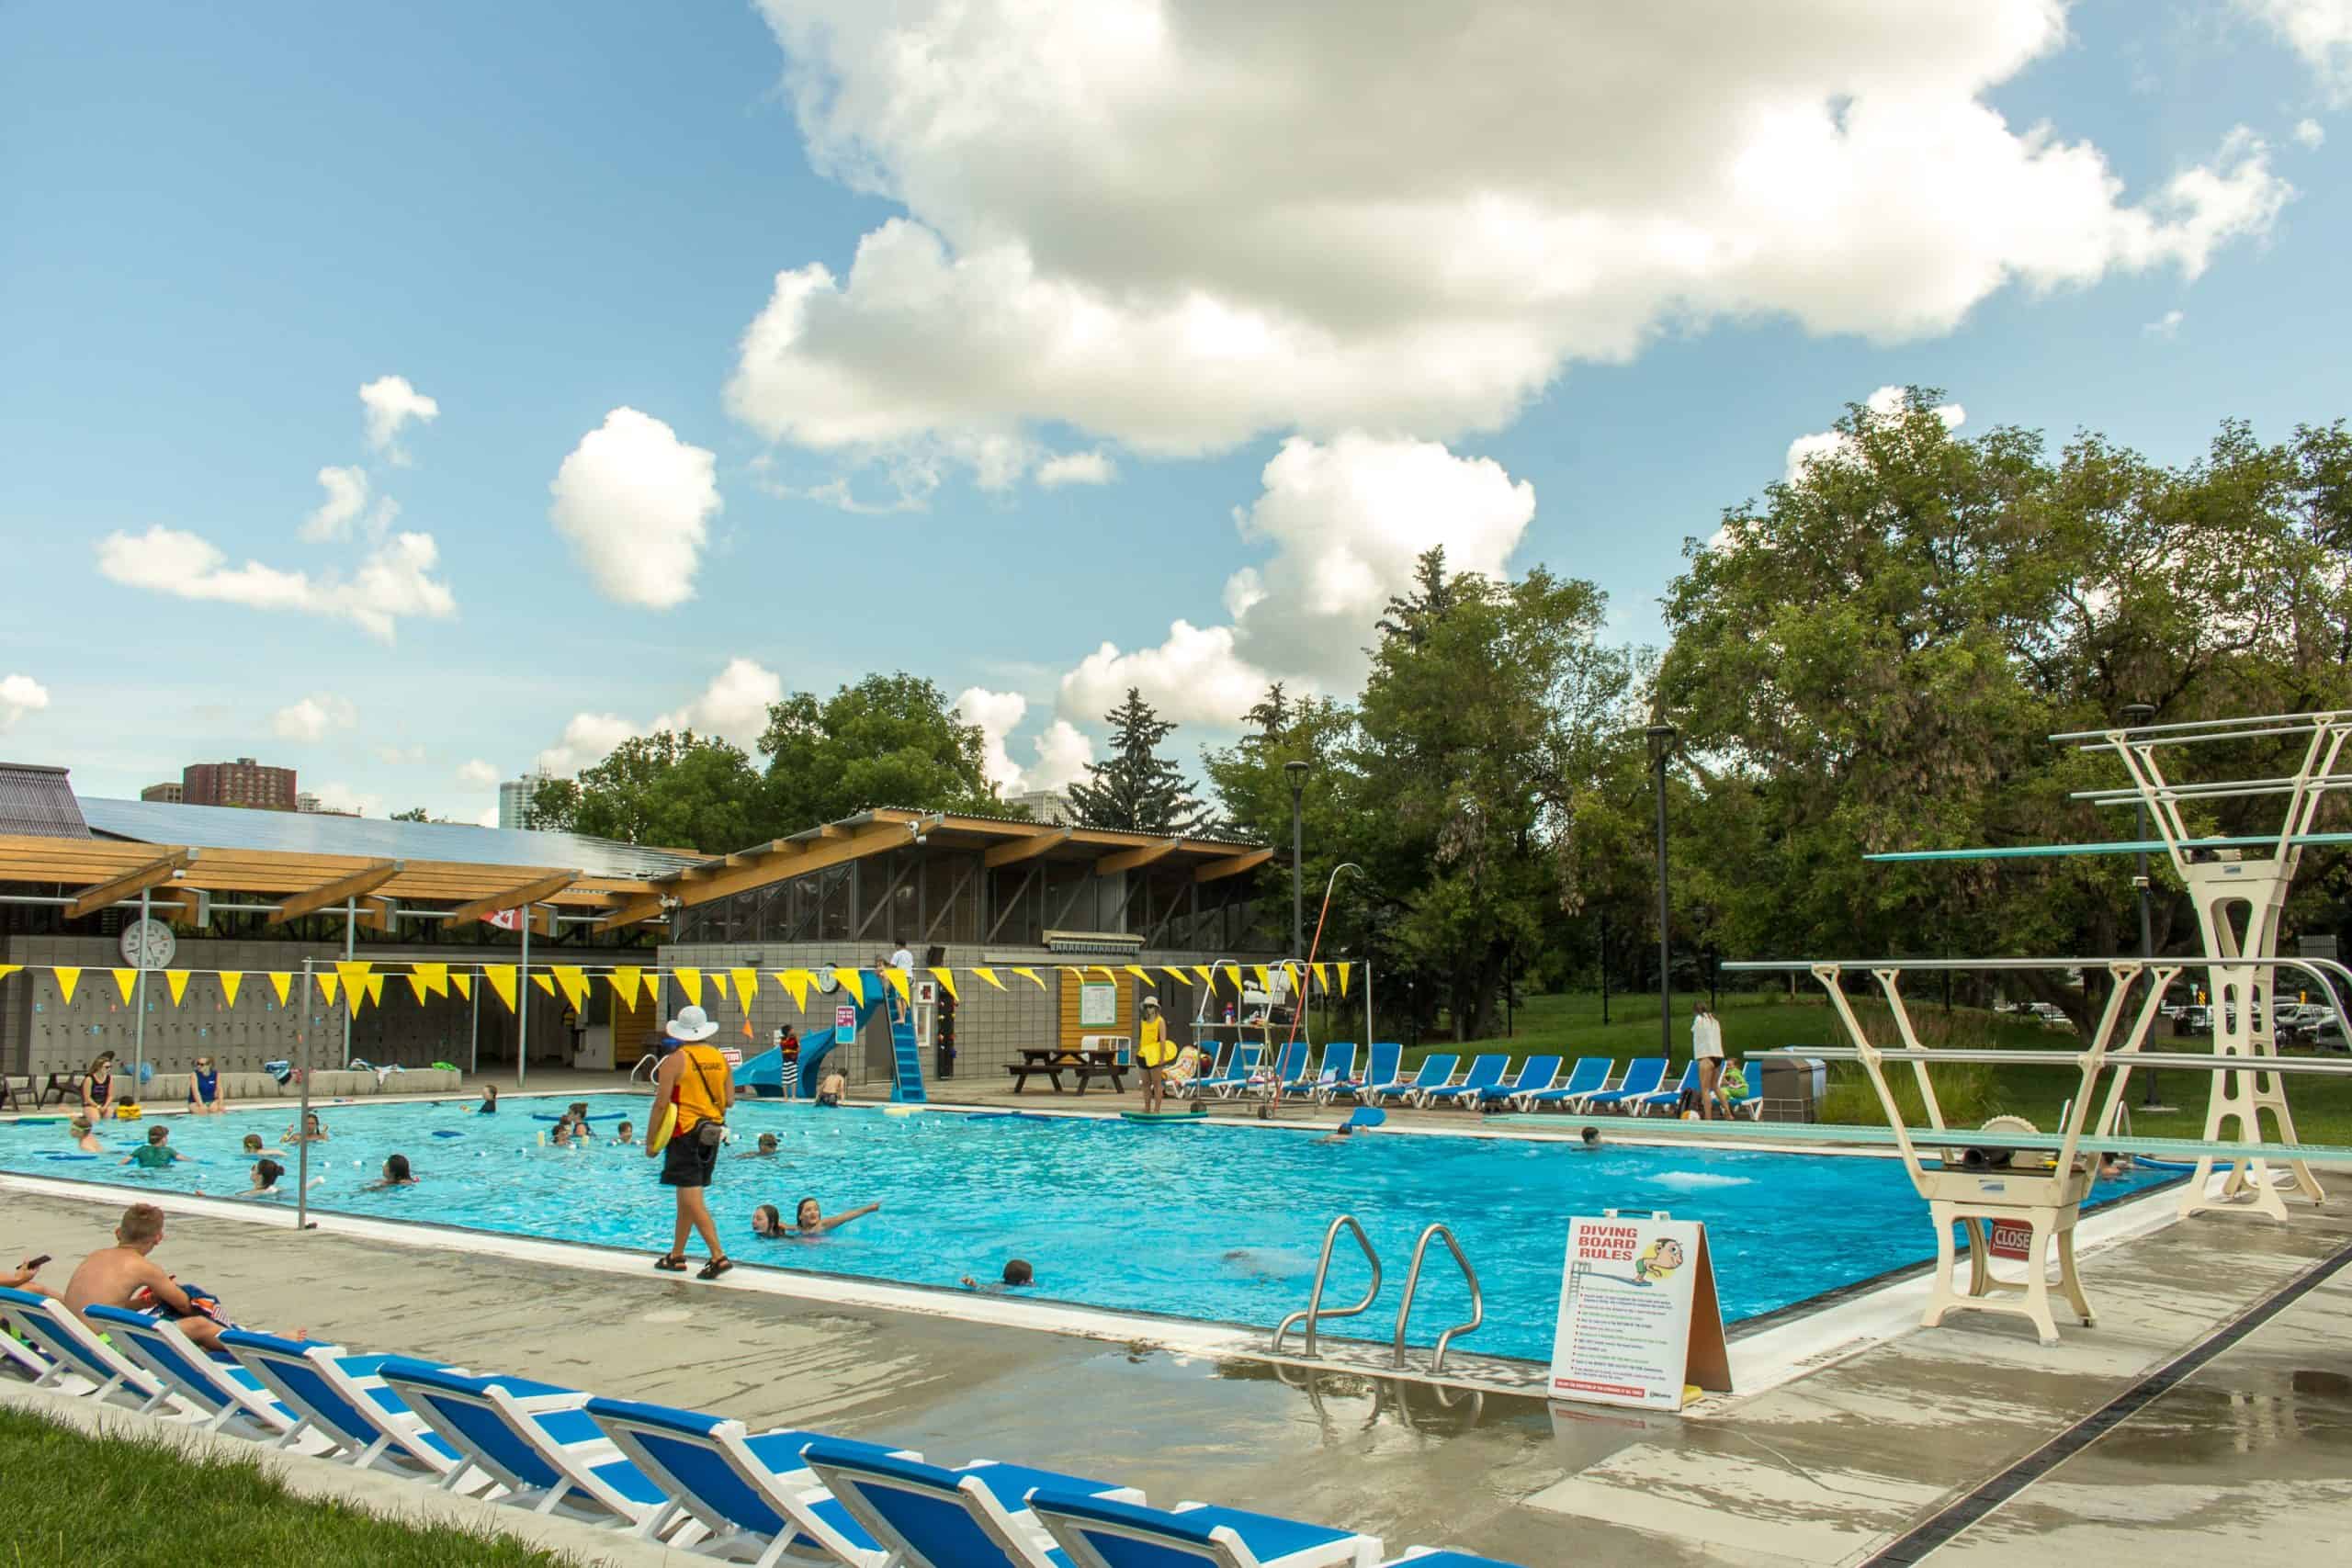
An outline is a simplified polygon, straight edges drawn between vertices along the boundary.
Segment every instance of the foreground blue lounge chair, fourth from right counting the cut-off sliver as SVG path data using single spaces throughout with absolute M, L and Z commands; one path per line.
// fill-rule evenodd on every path
M 710 1530 L 710 1540 L 694 1547 L 701 1556 L 748 1556 L 760 1568 L 786 1556 L 849 1568 L 882 1568 L 889 1561 L 882 1542 L 816 1483 L 802 1458 L 823 1432 L 753 1436 L 739 1420 L 633 1399 L 590 1399 L 588 1415 L 670 1502 Z M 877 1443 L 851 1448 L 891 1453 Z

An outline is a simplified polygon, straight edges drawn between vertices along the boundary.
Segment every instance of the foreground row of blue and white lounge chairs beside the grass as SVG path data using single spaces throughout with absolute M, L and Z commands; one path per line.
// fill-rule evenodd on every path
M 1051 1469 L 821 1432 L 760 1432 L 701 1410 L 600 1399 L 529 1378 L 228 1328 L 205 1354 L 176 1324 L 0 1288 L 28 1342 L 0 1361 L 35 1387 L 122 1399 L 289 1453 L 604 1523 L 699 1556 L 847 1568 L 1381 1568 L 1378 1537 L 1181 1502 Z M 94 1328 L 96 1326 L 96 1328 Z M 99 1338 L 103 1331 L 106 1338 Z M 1510 1568 L 1414 1547 L 1411 1568 Z M 1395 1568 L 1388 1566 L 1388 1568 Z

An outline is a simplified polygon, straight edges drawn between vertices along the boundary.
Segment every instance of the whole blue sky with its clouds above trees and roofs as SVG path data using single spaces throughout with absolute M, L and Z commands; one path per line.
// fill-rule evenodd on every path
M 1837 0 L 1780 16 L 1797 63 L 1564 5 L 1517 82 L 1416 66 L 1425 19 L 1383 68 L 1369 2 L 1247 42 L 1223 5 L 1101 0 L 1075 42 L 976 9 L 938 78 L 826 0 L 0 14 L 0 755 L 96 795 L 259 755 L 473 820 L 614 726 L 743 736 L 771 686 L 908 668 L 1054 783 L 1127 679 L 1181 743 L 1254 677 L 1345 691 L 1352 607 L 1454 529 L 1656 639 L 1682 541 L 1882 386 L 2169 461 L 2347 411 L 2338 0 L 1922 0 L 1875 42 Z M 1576 80 L 1604 42 L 1668 85 Z M 437 411 L 379 447 L 388 376 Z M 301 536 L 322 468 L 365 475 L 341 538 Z

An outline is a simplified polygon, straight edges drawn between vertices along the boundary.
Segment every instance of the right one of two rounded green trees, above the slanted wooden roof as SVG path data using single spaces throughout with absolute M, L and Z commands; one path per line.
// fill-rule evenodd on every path
M 764 813 L 774 835 L 870 806 L 1000 813 L 981 729 L 915 675 L 868 675 L 830 698 L 795 691 L 767 710 Z

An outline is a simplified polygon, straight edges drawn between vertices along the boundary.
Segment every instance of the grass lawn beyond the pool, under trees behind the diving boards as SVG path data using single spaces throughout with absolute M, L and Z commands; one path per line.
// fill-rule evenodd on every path
M 1924 980 L 1922 985 L 1931 985 L 1931 980 Z M 1884 1009 L 1860 1006 L 1860 997 L 1865 994 L 1863 987 L 1851 987 L 1849 994 L 1856 997 L 1856 1011 L 1863 1013 L 1865 1023 L 1884 1020 Z M 1905 999 L 1912 1004 L 1912 1023 L 1919 1027 L 1922 1039 L 1931 1046 L 1966 1044 L 2063 1051 L 2077 1039 L 2074 1034 L 2060 1030 L 2044 1030 L 2037 1023 L 2020 1023 L 2011 1013 L 1952 1009 L 1952 1013 L 1945 1016 L 1943 1004 L 1933 997 L 1933 990 L 1905 990 Z M 1672 1058 L 1677 1074 L 1682 1063 L 1691 1056 L 1691 1006 L 1698 1001 L 1705 1001 L 1705 992 L 1675 994 Z M 1844 1025 L 1839 1025 L 1818 987 L 1813 987 L 1811 994 L 1799 992 L 1797 997 L 1790 997 L 1788 992 L 1724 992 L 1717 997 L 1717 1016 L 1724 1020 L 1724 1051 L 1733 1058 L 1745 1056 L 1748 1051 L 1778 1051 L 1783 1046 L 1802 1048 L 1849 1044 Z M 1343 1030 L 1338 1032 L 1338 1039 L 1352 1039 L 1352 1034 Z M 1872 1039 L 1891 1041 L 1893 1030 L 1875 1030 Z M 2176 1039 L 2161 1032 L 2150 1039 L 2150 1051 L 2204 1048 L 2206 1044 L 2201 1039 Z M 1541 1053 L 1557 1053 L 1569 1060 L 1578 1056 L 1613 1056 L 1623 1067 L 1628 1058 L 1658 1056 L 1658 997 L 1611 997 L 1606 1025 L 1602 1023 L 1599 992 L 1529 997 L 1526 1004 L 1519 1006 L 1515 1032 L 1508 1039 L 1482 1039 L 1461 1046 L 1446 1039 L 1423 1039 L 1418 1048 L 1404 1053 L 1406 1072 L 1411 1072 L 1430 1051 L 1456 1051 L 1465 1065 L 1477 1051 L 1508 1051 L 1512 1058 L 1512 1072 L 1519 1070 L 1524 1058 Z M 1828 1114 L 1823 1117 L 1825 1121 L 1884 1126 L 1877 1095 L 1870 1093 L 1860 1067 L 1842 1067 L 1832 1063 L 1830 1074 L 1832 1100 L 1828 1105 Z M 1957 1093 L 1945 1091 L 1947 1079 Z M 2079 1079 L 2065 1067 L 1992 1067 L 1978 1072 L 1969 1072 L 1964 1067 L 1936 1070 L 1938 1098 L 1945 1100 L 1945 1117 L 1952 1124 L 1978 1124 L 1985 1117 L 2011 1114 L 2025 1117 L 2039 1128 L 2056 1128 L 2058 1114 L 2065 1107 L 2074 1081 Z M 2131 1131 L 2157 1138 L 2204 1138 L 2211 1074 L 2157 1074 L 2159 1095 L 2173 1107 L 2164 1114 L 2140 1110 L 2145 1088 L 2145 1074 L 2133 1074 Z M 2352 1077 L 2293 1077 L 2286 1081 L 2286 1103 L 2296 1112 L 2296 1135 L 2303 1143 L 2352 1147 Z M 2270 1138 L 2270 1133 L 2272 1128 L 2265 1124 L 2263 1135 Z

